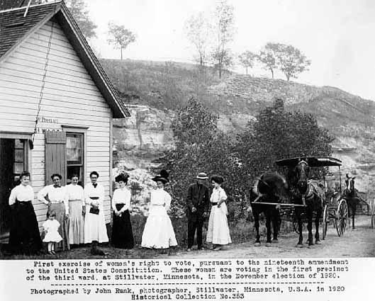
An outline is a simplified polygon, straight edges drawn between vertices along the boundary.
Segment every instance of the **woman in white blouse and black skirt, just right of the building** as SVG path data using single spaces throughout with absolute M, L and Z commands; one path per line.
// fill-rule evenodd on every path
M 128 175 L 119 174 L 115 180 L 118 188 L 113 193 L 113 226 L 112 226 L 112 244 L 116 248 L 133 249 L 134 239 L 132 225 L 130 223 L 130 191 L 125 188 L 128 183 Z

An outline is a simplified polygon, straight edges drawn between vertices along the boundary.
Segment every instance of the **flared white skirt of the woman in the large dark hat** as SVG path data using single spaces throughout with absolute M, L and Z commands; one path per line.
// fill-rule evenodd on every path
M 141 245 L 149 249 L 167 249 L 169 246 L 177 246 L 172 222 L 164 206 L 151 206 Z

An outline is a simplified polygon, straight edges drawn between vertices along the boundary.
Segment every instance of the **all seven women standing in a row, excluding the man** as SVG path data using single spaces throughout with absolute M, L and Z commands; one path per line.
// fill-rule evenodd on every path
M 150 209 L 142 233 L 141 246 L 148 249 L 167 249 L 177 246 L 172 221 L 168 212 L 171 204 L 171 195 L 164 191 L 164 186 L 169 182 L 167 171 L 154 178 L 156 188 L 150 193 Z M 52 175 L 53 184 L 45 186 L 38 193 L 38 200 L 47 206 L 47 220 L 56 220 L 58 227 L 56 235 L 45 235 L 40 237 L 38 221 L 35 216 L 32 200 L 34 198 L 33 188 L 30 186 L 30 174 L 24 171 L 20 176 L 20 185 L 13 188 L 9 197 L 9 205 L 12 208 L 12 223 L 9 237 L 9 250 L 15 253 L 35 254 L 42 247 L 43 242 L 52 243 L 52 254 L 54 246 L 56 250 L 68 250 L 74 245 L 91 244 L 91 254 L 105 255 L 98 249 L 98 244 L 108 242 L 106 223 L 104 220 L 103 200 L 104 188 L 97 183 L 99 174 L 91 172 L 91 183 L 84 188 L 79 186 L 79 177 L 72 176 L 72 183 L 67 186 L 61 185 L 62 176 Z M 228 221 L 223 208 L 225 208 L 226 195 L 220 184 L 220 178 L 213 178 L 213 193 L 211 203 L 220 204 L 213 206 L 208 222 L 207 242 L 213 244 L 230 243 Z M 118 188 L 113 193 L 113 225 L 111 244 L 116 248 L 132 249 L 134 238 L 130 223 L 130 199 L 131 193 L 126 185 L 128 175 L 119 174 L 115 178 Z M 220 210 L 220 212 L 216 212 Z M 51 217 L 52 216 L 52 217 Z M 47 223 L 45 223 L 47 224 Z M 60 227 L 59 227 L 60 226 Z M 225 233 L 225 242 L 223 241 Z M 57 237 L 58 240 L 51 242 L 46 237 Z M 50 253 L 51 254 L 51 253 Z

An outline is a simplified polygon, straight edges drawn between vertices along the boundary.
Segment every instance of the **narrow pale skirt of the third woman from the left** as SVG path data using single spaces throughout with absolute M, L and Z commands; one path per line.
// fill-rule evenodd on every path
M 69 200 L 69 244 L 84 243 L 82 200 Z

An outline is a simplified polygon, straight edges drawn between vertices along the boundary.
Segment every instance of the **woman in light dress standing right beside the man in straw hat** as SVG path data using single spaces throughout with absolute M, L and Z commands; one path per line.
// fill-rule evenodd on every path
M 213 249 L 215 251 L 220 250 L 223 245 L 232 242 L 227 220 L 228 209 L 225 205 L 227 195 L 224 189 L 221 188 L 223 181 L 222 176 L 211 176 L 213 190 L 210 201 L 212 208 L 208 220 L 207 242 L 213 244 Z

